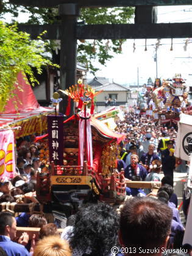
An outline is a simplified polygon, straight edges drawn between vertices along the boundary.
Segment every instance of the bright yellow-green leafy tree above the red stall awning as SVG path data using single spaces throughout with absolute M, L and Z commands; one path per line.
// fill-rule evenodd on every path
M 21 71 L 28 75 L 30 84 L 38 84 L 35 79 L 33 68 L 40 74 L 43 66 L 53 65 L 51 60 L 43 57 L 47 43 L 41 40 L 30 40 L 30 35 L 18 32 L 16 25 L 6 26 L 0 21 L 0 111 L 5 103 L 15 96 L 14 84 L 17 74 Z M 20 85 L 17 84 L 18 88 Z M 20 88 L 21 90 L 21 88 Z

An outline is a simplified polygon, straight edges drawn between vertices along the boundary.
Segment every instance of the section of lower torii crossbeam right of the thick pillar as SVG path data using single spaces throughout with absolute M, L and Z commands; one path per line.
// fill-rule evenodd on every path
M 77 25 L 77 39 L 192 37 L 192 23 Z

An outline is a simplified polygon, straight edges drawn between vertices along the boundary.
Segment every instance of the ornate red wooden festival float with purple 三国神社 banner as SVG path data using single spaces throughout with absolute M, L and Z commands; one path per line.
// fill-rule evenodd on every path
M 62 91 L 75 102 L 76 113 L 65 119 L 57 115 L 62 99 L 54 93 L 55 115 L 48 116 L 48 134 L 38 137 L 43 147 L 40 160 L 47 171 L 37 176 L 37 199 L 52 210 L 71 215 L 82 201 L 119 204 L 126 196 L 124 171 L 116 170 L 118 143 L 124 139 L 93 117 L 94 96 L 90 86 L 77 85 Z M 114 113 L 113 113 L 114 114 Z M 50 165 L 49 165 L 50 164 Z M 49 171 L 48 171 L 49 169 Z

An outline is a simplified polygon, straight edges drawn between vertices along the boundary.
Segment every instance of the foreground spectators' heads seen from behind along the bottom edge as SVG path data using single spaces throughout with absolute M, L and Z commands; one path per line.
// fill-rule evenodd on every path
M 29 226 L 40 232 L 30 237 L 16 237 L 15 217 L 1 212 L 0 255 L 191 255 L 190 244 L 182 245 L 184 230 L 178 228 L 168 197 L 162 188 L 157 198 L 127 199 L 119 211 L 102 202 L 82 205 L 62 233 L 43 215 L 32 215 Z

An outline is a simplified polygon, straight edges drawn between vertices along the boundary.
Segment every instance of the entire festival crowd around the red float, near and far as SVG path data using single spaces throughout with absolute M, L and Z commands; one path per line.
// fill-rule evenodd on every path
M 116 132 L 126 134 L 119 145 L 119 171 L 124 168 L 127 180 L 161 181 L 162 187 L 156 192 L 127 187 L 120 206 L 86 202 L 59 233 L 54 218 L 43 212 L 32 209 L 15 215 L 12 211 L 15 202 L 38 203 L 36 175 L 47 168 L 40 161 L 43 144 L 35 143 L 33 135 L 21 138 L 16 144 L 17 174 L 0 183 L 0 255 L 192 255 L 192 246 L 182 245 L 185 228 L 173 188 L 174 170 L 186 171 L 186 163 L 180 168 L 174 157 L 176 126 L 162 126 L 127 112 Z M 40 231 L 16 237 L 16 226 L 39 227 Z

